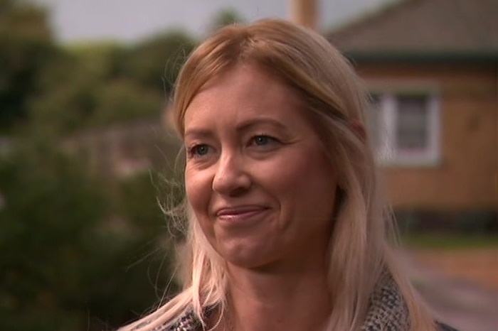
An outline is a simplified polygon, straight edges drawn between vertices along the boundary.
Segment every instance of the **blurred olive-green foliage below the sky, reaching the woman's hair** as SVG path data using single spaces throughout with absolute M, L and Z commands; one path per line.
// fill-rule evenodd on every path
M 172 32 L 130 48 L 97 44 L 64 50 L 39 76 L 43 93 L 31 99 L 33 123 L 67 134 L 157 117 L 194 45 Z

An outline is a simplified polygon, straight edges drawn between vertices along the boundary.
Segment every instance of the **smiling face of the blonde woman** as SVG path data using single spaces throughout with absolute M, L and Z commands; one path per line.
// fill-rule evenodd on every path
M 337 173 L 294 90 L 235 67 L 194 97 L 184 140 L 187 198 L 226 261 L 256 268 L 324 257 Z

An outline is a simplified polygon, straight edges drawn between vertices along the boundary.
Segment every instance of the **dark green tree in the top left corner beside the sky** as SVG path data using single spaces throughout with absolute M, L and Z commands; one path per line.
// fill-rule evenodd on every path
M 56 48 L 46 12 L 26 1 L 0 0 L 0 131 L 26 121 L 36 77 Z

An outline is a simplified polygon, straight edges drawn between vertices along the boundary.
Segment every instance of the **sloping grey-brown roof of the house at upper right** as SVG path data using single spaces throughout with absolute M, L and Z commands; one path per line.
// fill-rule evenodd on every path
M 498 0 L 396 1 L 327 39 L 355 60 L 498 61 Z

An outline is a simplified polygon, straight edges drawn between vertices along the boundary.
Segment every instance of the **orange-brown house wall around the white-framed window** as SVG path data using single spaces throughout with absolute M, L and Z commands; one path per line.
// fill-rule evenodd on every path
M 440 92 L 437 165 L 382 168 L 393 207 L 498 210 L 498 66 L 358 65 L 369 85 L 410 82 Z

